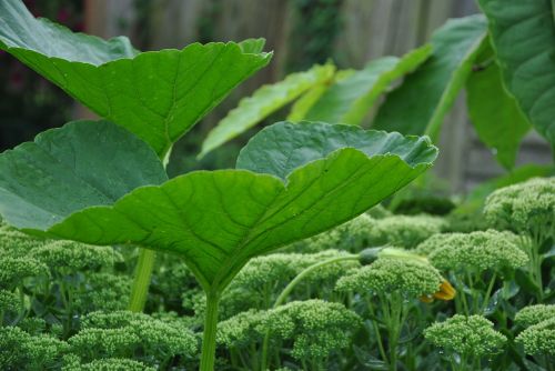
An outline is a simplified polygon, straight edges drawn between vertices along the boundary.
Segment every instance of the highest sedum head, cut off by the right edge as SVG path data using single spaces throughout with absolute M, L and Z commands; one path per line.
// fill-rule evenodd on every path
M 495 227 L 529 232 L 551 231 L 555 223 L 555 178 L 534 178 L 496 190 L 486 199 L 484 213 Z

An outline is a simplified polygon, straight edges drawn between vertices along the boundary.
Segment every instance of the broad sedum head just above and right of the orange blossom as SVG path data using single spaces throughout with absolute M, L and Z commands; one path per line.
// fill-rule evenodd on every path
M 427 255 L 440 270 L 516 269 L 528 261 L 516 243 L 516 235 L 495 230 L 436 234 L 422 242 L 416 251 Z

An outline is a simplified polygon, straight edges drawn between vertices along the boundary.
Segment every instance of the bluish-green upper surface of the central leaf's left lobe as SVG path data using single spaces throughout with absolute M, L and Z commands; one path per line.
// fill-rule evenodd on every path
M 108 121 L 75 121 L 0 156 L 0 214 L 46 230 L 92 204 L 168 180 L 154 151 Z

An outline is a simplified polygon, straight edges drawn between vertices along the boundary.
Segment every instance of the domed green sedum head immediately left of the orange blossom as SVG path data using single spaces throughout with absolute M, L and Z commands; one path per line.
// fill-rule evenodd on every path
M 440 272 L 416 259 L 379 258 L 370 265 L 351 270 L 337 281 L 340 291 L 398 292 L 406 298 L 433 295 L 444 282 Z

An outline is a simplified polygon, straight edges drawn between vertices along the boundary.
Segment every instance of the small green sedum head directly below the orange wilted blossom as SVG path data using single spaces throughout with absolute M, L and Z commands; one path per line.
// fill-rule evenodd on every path
M 424 330 L 424 338 L 447 351 L 471 357 L 485 357 L 502 351 L 507 338 L 482 315 L 455 314 Z

